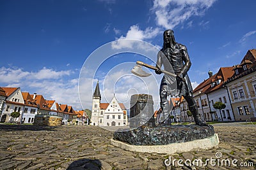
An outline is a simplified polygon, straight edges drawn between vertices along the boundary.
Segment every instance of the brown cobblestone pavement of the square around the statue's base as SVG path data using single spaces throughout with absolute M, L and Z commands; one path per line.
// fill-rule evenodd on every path
M 110 145 L 113 132 L 93 126 L 0 125 L 0 169 L 255 169 L 256 125 L 215 124 L 220 145 L 173 155 L 129 152 Z M 216 159 L 216 152 L 222 157 Z M 166 159 L 237 160 L 238 166 L 165 166 Z M 206 163 L 205 163 L 206 162 Z M 166 162 L 168 164 L 168 162 Z M 217 162 L 218 163 L 218 162 Z M 216 164 L 217 164 L 216 163 Z M 199 164 L 200 165 L 200 164 Z M 217 164 L 218 165 L 218 164 Z

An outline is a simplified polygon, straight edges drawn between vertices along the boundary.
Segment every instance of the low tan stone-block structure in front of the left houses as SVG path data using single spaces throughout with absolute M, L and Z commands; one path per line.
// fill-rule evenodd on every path
M 35 115 L 33 125 L 61 126 L 62 117 L 54 115 Z

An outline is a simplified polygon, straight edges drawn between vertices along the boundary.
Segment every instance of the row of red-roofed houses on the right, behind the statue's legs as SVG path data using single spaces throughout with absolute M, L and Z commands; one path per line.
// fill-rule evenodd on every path
M 231 67 L 220 67 L 216 74 L 209 71 L 209 78 L 202 81 L 194 90 L 193 96 L 202 120 L 211 121 L 244 121 L 256 119 L 256 50 L 248 50 L 240 64 Z M 216 110 L 217 101 L 226 107 Z M 180 122 L 191 122 L 188 117 L 188 103 L 185 100 L 173 99 L 171 115 Z

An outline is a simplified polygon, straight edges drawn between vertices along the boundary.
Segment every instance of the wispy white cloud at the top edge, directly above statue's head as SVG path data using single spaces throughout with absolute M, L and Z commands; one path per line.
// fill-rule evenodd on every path
M 173 29 L 193 15 L 204 15 L 216 0 L 155 0 L 156 24 Z

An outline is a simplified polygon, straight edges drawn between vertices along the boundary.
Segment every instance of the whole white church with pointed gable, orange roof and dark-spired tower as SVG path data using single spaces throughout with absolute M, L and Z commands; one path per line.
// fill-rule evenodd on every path
M 128 125 L 127 109 L 123 103 L 118 103 L 115 94 L 110 103 L 100 103 L 101 95 L 99 81 L 95 87 L 92 101 L 91 125 L 125 126 Z

